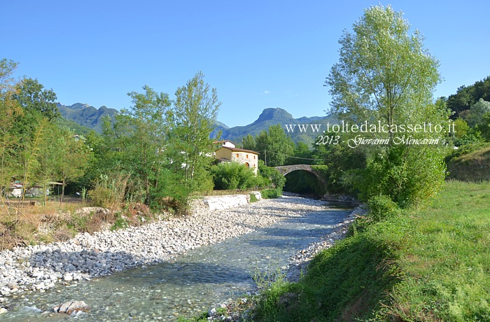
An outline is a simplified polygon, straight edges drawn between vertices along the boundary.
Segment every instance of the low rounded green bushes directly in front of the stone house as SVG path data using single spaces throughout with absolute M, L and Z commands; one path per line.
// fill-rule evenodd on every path
M 211 167 L 214 188 L 232 190 L 254 188 L 257 181 L 253 169 L 237 162 L 223 162 Z

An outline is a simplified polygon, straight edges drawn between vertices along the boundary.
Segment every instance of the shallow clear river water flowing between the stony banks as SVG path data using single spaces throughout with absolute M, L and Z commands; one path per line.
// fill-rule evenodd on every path
M 127 269 L 111 276 L 27 293 L 13 300 L 0 321 L 176 321 L 196 316 L 254 289 L 255 272 L 286 267 L 289 258 L 329 232 L 347 209 L 288 218 L 241 237 L 202 246 L 171 262 Z M 48 313 L 57 304 L 85 301 L 90 313 Z

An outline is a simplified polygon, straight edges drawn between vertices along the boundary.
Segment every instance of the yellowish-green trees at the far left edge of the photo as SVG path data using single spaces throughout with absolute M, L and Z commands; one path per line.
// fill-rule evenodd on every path
M 16 66 L 8 59 L 0 61 L 2 195 L 12 181 L 25 186 L 36 183 L 43 191 L 52 181 L 59 181 L 63 197 L 66 184 L 84 174 L 89 151 L 73 133 L 57 126 L 55 92 L 45 90 L 31 78 L 16 81 L 13 78 Z M 21 200 L 25 192 L 22 190 Z

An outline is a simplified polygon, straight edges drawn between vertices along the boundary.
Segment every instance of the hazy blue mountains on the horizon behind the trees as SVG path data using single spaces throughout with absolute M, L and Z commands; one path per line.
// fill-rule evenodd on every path
M 71 127 L 80 134 L 85 134 L 89 129 L 96 132 L 102 132 L 102 118 L 109 116 L 111 120 L 114 120 L 114 116 L 118 113 L 116 109 L 109 109 L 106 106 L 101 106 L 99 109 L 88 104 L 76 103 L 70 106 L 58 104 L 59 112 L 63 116 L 63 121 L 66 126 Z M 228 127 L 227 125 L 217 122 L 216 129 L 211 133 L 211 137 L 216 137 L 219 131 L 221 131 L 221 139 L 234 141 L 235 144 L 239 144 L 242 138 L 251 134 L 253 137 L 257 136 L 263 130 L 267 130 L 271 125 L 281 124 L 285 129 L 285 125 L 299 125 L 299 124 L 318 124 L 322 125 L 325 129 L 327 123 L 334 123 L 335 120 L 330 116 L 312 116 L 293 118 L 293 116 L 284 109 L 267 108 L 260 113 L 257 120 L 253 123 Z M 80 127 L 81 125 L 81 127 Z M 286 131 L 286 133 L 288 133 Z M 313 132 L 311 128 L 307 131 L 300 132 L 297 128 L 295 132 L 288 133 L 293 141 L 302 141 L 306 144 L 314 142 L 318 137 L 318 132 Z

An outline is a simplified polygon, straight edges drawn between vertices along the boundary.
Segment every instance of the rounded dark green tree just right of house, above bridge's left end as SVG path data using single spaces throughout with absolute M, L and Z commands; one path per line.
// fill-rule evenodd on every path
M 255 138 L 256 149 L 260 152 L 259 159 L 269 167 L 285 165 L 288 157 L 293 155 L 295 144 L 288 137 L 280 124 L 269 126 Z

